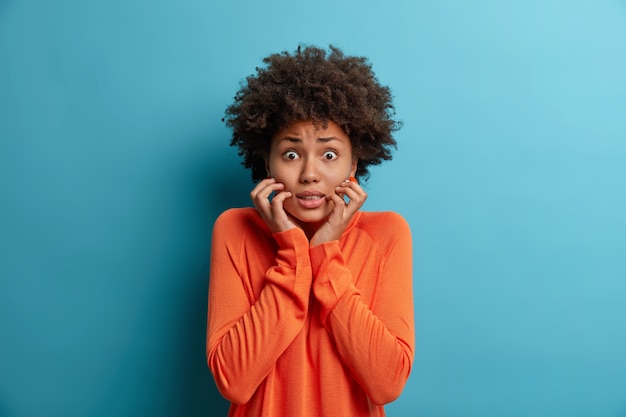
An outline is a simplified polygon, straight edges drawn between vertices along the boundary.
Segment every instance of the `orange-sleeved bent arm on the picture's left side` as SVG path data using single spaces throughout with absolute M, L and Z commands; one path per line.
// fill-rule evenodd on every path
M 221 216 L 211 245 L 207 363 L 222 395 L 248 402 L 301 330 L 309 301 L 308 240 L 300 229 L 275 233 L 276 264 L 259 296 L 246 290 L 243 237 Z

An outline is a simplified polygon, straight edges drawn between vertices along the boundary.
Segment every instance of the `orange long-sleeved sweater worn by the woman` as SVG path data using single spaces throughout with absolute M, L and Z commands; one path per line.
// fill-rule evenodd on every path
M 383 416 L 413 362 L 411 233 L 357 212 L 339 241 L 271 234 L 254 208 L 215 222 L 207 362 L 229 416 Z

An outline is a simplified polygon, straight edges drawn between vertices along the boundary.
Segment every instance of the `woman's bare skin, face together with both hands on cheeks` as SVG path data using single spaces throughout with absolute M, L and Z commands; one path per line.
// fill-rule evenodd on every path
M 324 129 L 297 121 L 272 138 L 266 158 L 269 178 L 250 197 L 272 233 L 299 227 L 311 246 L 319 245 L 339 239 L 367 198 L 349 180 L 356 168 L 352 143 L 339 125 L 329 121 Z

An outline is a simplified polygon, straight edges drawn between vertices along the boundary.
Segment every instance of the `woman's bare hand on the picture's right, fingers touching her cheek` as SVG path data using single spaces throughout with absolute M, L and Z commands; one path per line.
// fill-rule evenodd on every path
M 344 196 L 348 196 L 348 203 L 345 202 Z M 326 199 L 332 201 L 335 207 L 326 222 L 313 235 L 311 246 L 338 240 L 350 224 L 354 214 L 365 203 L 367 193 L 357 182 L 345 180 L 335 189 L 335 193 L 326 196 Z

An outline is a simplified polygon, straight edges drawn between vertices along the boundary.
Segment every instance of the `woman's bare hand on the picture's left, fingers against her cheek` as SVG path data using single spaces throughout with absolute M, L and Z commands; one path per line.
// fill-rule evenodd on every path
M 293 195 L 289 191 L 282 191 L 284 188 L 285 185 L 276 182 L 276 179 L 267 178 L 259 182 L 250 192 L 254 206 L 272 233 L 284 232 L 296 227 L 283 208 L 283 202 Z M 270 201 L 269 197 L 273 192 L 276 194 Z

